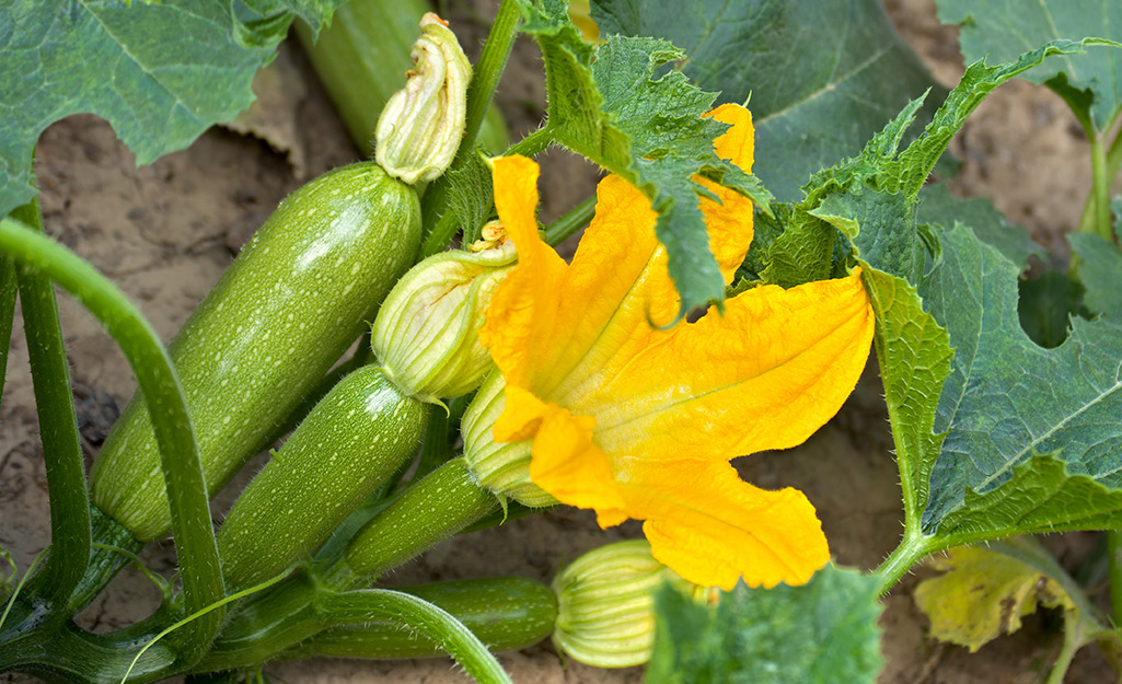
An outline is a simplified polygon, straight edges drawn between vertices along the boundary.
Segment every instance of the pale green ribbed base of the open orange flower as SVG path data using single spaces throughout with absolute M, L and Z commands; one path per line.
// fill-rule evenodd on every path
M 495 442 L 493 429 L 506 406 L 506 381 L 496 370 L 476 394 L 463 413 L 460 434 L 463 435 L 463 460 L 485 489 L 514 499 L 523 506 L 542 508 L 558 500 L 530 480 L 530 450 L 533 442 Z

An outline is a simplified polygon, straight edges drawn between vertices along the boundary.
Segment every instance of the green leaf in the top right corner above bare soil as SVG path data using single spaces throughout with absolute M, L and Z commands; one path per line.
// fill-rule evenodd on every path
M 937 0 L 937 4 L 944 24 L 962 27 L 958 40 L 967 62 L 986 55 L 1010 61 L 1058 38 L 1122 41 L 1122 3 L 1118 0 Z M 1024 77 L 1047 83 L 1077 115 L 1089 117 L 1098 130 L 1122 111 L 1122 50 L 1092 50 L 1079 59 L 1065 57 Z

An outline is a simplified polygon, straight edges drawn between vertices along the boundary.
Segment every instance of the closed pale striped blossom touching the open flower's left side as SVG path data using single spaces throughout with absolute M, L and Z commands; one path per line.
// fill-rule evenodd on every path
M 514 243 L 429 257 L 398 280 L 378 311 L 370 344 L 406 395 L 431 401 L 479 386 L 493 368 L 478 330 L 491 295 L 514 268 Z

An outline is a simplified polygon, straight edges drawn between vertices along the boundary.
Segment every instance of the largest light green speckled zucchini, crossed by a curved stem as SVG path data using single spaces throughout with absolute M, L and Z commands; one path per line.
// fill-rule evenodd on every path
M 208 489 L 215 493 L 374 317 L 413 264 L 413 188 L 376 164 L 335 169 L 285 200 L 171 345 Z M 138 394 L 93 468 L 94 503 L 137 539 L 171 525 L 155 434 Z

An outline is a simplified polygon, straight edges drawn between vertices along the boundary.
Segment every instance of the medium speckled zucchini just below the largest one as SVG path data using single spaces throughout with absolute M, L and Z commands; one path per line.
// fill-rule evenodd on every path
M 229 585 L 252 586 L 323 544 L 416 453 L 425 409 L 378 367 L 340 380 L 227 516 L 218 547 Z

